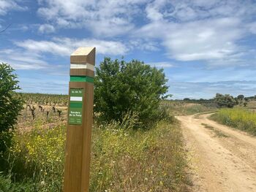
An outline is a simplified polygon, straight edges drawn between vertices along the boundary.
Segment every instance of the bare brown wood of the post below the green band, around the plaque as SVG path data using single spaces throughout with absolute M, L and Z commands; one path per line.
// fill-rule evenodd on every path
M 82 125 L 67 125 L 64 192 L 87 192 L 89 191 L 94 84 L 69 82 L 69 90 L 70 88 L 84 88 L 85 91 Z

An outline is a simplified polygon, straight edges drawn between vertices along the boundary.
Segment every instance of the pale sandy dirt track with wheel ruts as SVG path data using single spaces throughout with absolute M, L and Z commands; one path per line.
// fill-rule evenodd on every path
M 192 191 L 256 192 L 256 137 L 207 117 L 176 117 L 191 158 Z

